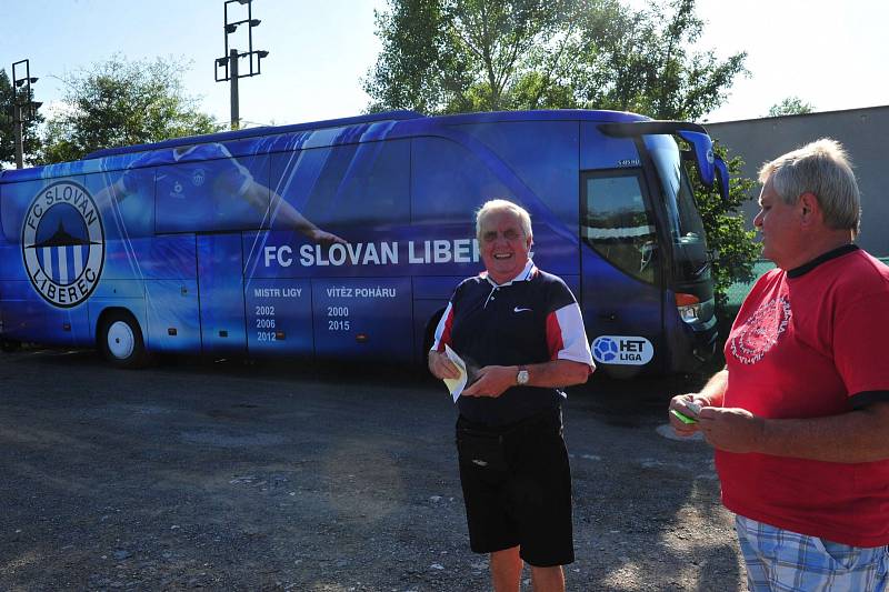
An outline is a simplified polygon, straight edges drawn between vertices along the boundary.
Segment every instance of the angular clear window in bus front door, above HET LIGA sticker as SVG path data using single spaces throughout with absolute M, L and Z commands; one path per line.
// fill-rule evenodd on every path
M 639 175 L 587 177 L 583 208 L 583 241 L 625 273 L 655 283 L 657 231 Z

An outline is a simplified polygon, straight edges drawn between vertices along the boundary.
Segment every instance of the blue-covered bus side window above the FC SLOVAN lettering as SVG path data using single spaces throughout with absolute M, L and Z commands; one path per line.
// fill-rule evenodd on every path
M 271 189 L 324 230 L 408 221 L 408 140 L 281 152 L 271 159 Z M 287 227 L 276 217 L 272 229 Z

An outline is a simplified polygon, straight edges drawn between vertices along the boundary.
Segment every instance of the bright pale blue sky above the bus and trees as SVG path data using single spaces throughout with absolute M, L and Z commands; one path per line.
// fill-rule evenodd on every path
M 13 61 L 30 59 L 31 74 L 40 77 L 37 99 L 46 104 L 63 93 L 58 77 L 114 52 L 173 56 L 191 62 L 186 86 L 202 97 L 201 108 L 229 119 L 228 83 L 213 78 L 213 60 L 224 52 L 223 0 L 0 0 L 0 67 L 10 71 Z M 253 48 L 270 53 L 261 76 L 241 79 L 241 118 L 283 124 L 359 114 L 368 103 L 360 79 L 380 49 L 373 10 L 384 7 L 384 0 L 254 0 L 253 18 L 262 22 Z M 889 104 L 889 2 L 698 0 L 698 14 L 708 23 L 701 48 L 722 58 L 750 54 L 751 77 L 735 84 L 709 121 L 762 117 L 788 96 L 818 111 Z M 230 39 L 246 47 L 237 33 Z

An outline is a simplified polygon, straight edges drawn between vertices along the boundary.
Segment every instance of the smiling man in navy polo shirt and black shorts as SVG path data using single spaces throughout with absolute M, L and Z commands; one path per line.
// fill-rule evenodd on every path
M 560 591 L 575 552 L 558 389 L 596 367 L 573 294 L 529 259 L 528 212 L 489 201 L 476 233 L 486 271 L 457 287 L 429 353 L 440 379 L 460 374 L 444 345 L 478 369 L 457 400 L 470 545 L 490 553 L 496 591 L 519 590 L 522 561 L 536 591 Z

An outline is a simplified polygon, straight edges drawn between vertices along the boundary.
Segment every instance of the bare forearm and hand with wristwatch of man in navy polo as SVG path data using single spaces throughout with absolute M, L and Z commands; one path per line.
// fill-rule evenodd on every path
M 528 387 L 561 388 L 583 384 L 590 375 L 590 367 L 572 360 L 552 360 L 527 365 Z M 486 365 L 479 370 L 479 379 L 462 392 L 466 397 L 500 397 L 516 385 L 517 365 Z

